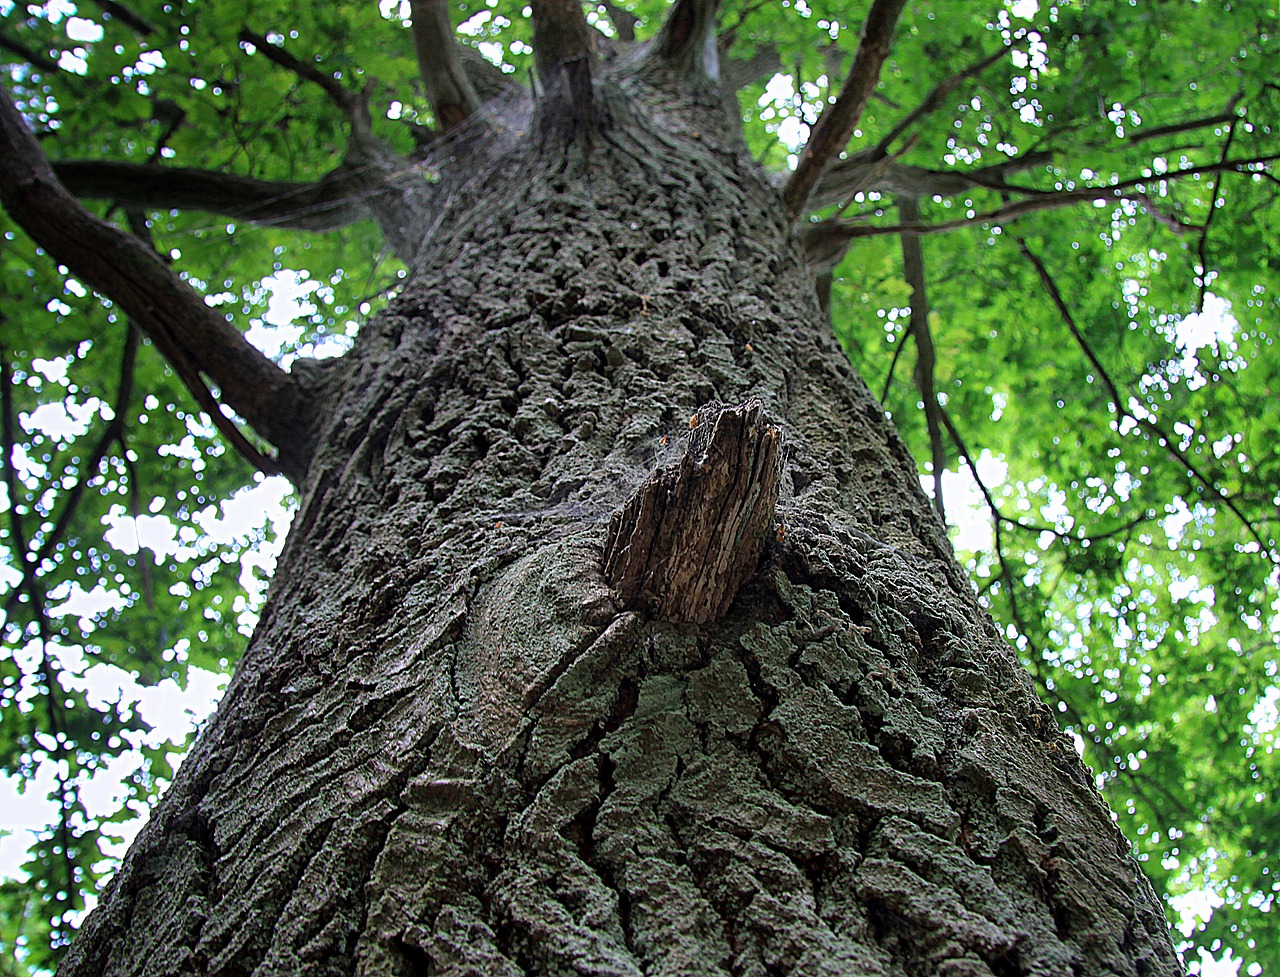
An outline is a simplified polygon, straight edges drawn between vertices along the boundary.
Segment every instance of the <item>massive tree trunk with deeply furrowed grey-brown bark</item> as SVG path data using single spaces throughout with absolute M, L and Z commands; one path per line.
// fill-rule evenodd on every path
M 438 149 L 468 175 L 312 367 L 261 625 L 61 972 L 1179 973 L 721 102 L 602 91 Z M 748 398 L 758 567 L 627 610 L 611 515 Z

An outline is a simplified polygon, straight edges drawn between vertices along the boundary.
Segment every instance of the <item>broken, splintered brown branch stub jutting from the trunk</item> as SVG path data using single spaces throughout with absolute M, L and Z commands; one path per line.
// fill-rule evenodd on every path
M 778 502 L 781 435 L 756 400 L 708 403 L 690 428 L 684 458 L 609 520 L 604 575 L 634 610 L 705 624 L 755 572 Z

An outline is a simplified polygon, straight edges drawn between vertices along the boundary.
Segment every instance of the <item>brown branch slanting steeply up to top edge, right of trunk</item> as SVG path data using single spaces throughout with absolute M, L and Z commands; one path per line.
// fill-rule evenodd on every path
M 879 83 L 881 67 L 888 58 L 893 29 L 906 6 L 906 0 L 874 0 L 858 38 L 854 65 L 835 104 L 823 109 L 809 141 L 800 152 L 800 161 L 782 188 L 782 202 L 799 216 L 805 211 L 809 195 L 818 184 L 827 163 L 844 151 Z

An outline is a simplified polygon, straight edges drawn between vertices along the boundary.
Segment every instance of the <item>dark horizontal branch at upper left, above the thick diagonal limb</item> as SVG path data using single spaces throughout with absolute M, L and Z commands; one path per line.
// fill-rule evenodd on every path
M 148 210 L 200 210 L 255 224 L 335 230 L 369 216 L 349 168 L 316 183 L 252 179 L 211 170 L 105 160 L 52 164 L 63 186 L 84 200 Z

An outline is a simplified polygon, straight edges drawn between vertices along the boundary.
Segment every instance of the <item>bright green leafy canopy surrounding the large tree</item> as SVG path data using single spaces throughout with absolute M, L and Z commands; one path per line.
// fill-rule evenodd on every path
M 666 9 L 620 5 L 640 37 Z M 453 12 L 462 40 L 520 81 L 532 70 L 524 6 L 462 0 Z M 748 146 L 780 175 L 847 73 L 868 6 L 723 4 L 727 56 L 781 65 L 740 92 Z M 102 5 L 0 0 L 3 37 L 63 65 L 0 54 L 55 160 L 321 178 L 346 155 L 343 114 L 241 42 L 244 28 L 352 92 L 367 86 L 375 134 L 397 150 L 429 134 L 407 3 L 129 9 L 150 33 Z M 617 33 L 605 4 L 588 12 Z M 924 224 L 959 222 L 922 238 L 934 387 L 954 425 L 946 453 L 954 469 L 982 458 L 979 471 L 1004 471 L 978 516 L 998 508 L 996 533 L 969 563 L 1156 886 L 1175 909 L 1197 892 L 1219 901 L 1189 959 L 1229 948 L 1245 967 L 1280 965 L 1280 181 L 1274 160 L 1212 168 L 1280 152 L 1277 33 L 1276 6 L 1261 0 L 920 0 L 850 146 L 876 146 L 934 86 L 996 55 L 887 146 L 900 164 L 948 173 L 1030 160 L 1005 174 L 1028 193 L 988 174 L 919 200 Z M 1102 200 L 1126 181 L 1140 187 Z M 1062 198 L 1087 187 L 1097 202 Z M 1012 197 L 1044 209 L 977 219 Z M 125 225 L 122 209 L 93 206 Z M 842 215 L 863 229 L 900 223 L 897 201 L 874 188 Z M 148 218 L 155 247 L 284 362 L 343 348 L 402 274 L 367 223 L 303 236 L 204 213 Z M 38 972 L 186 747 L 157 741 L 138 699 L 232 667 L 262 589 L 241 562 L 269 530 L 210 535 L 252 469 L 109 301 L 4 216 L 0 236 L 17 440 L 0 522 L 0 768 L 52 803 L 23 881 L 0 886 L 0 942 L 8 969 Z M 257 325 L 273 295 L 298 291 L 291 325 Z M 928 457 L 901 237 L 856 238 L 829 300 L 851 360 Z M 104 694 L 106 679 L 125 691 Z

